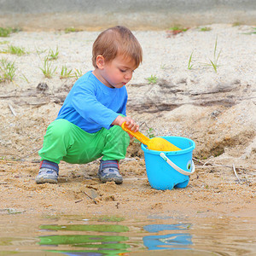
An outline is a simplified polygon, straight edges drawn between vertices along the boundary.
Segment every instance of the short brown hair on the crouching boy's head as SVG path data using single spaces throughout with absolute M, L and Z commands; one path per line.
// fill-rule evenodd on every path
M 143 49 L 137 38 L 125 26 L 114 26 L 100 33 L 92 47 L 92 64 L 96 67 L 96 56 L 102 55 L 106 62 L 117 55 L 135 61 L 136 67 L 143 61 Z

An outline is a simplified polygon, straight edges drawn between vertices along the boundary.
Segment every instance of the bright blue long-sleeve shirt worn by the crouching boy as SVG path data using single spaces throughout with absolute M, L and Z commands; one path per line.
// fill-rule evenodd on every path
M 127 90 L 109 88 L 90 71 L 79 78 L 67 95 L 56 119 L 67 119 L 84 131 L 109 129 L 119 113 L 126 115 Z

